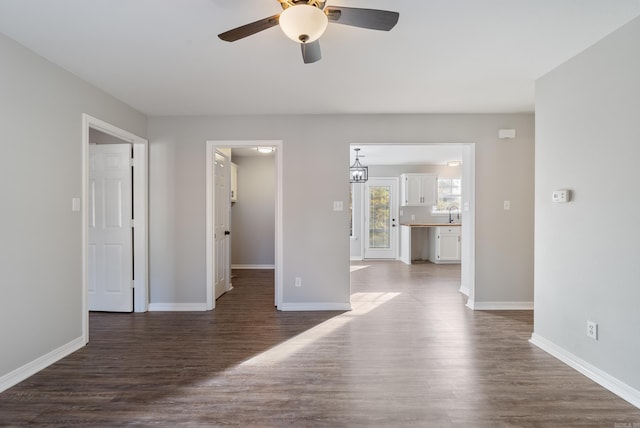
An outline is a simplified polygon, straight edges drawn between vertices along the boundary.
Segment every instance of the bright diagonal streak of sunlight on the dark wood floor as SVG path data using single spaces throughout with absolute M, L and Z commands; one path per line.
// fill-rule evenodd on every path
M 399 295 L 400 293 L 386 292 L 355 293 L 351 296 L 351 311 L 345 312 L 344 314 L 318 324 L 317 326 L 292 337 L 286 342 L 240 363 L 240 366 L 260 366 L 279 363 L 293 354 L 300 352 L 307 345 L 331 334 L 353 319 L 371 312 L 375 308 L 387 303 Z

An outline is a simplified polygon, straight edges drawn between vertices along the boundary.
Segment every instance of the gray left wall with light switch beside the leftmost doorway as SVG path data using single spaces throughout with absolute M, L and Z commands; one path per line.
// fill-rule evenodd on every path
M 82 336 L 82 113 L 146 118 L 0 34 L 0 377 Z

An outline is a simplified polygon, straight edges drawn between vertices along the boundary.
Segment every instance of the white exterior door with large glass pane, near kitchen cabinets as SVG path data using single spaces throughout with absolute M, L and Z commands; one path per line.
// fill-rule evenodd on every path
M 398 247 L 398 179 L 370 178 L 365 184 L 364 258 L 395 259 Z

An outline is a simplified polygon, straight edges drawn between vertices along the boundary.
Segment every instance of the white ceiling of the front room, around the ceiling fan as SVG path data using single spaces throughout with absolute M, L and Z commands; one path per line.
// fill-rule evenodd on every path
M 389 33 L 330 24 L 305 65 L 279 28 L 217 34 L 275 0 L 0 0 L 0 32 L 148 115 L 534 109 L 534 81 L 640 15 L 640 0 L 330 0 L 389 9 Z

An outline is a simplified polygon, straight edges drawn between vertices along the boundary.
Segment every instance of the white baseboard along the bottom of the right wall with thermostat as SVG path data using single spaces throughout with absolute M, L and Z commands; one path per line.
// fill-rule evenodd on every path
M 610 374 L 600 370 L 599 368 L 587 363 L 580 357 L 561 348 L 555 343 L 545 339 L 544 337 L 533 333 L 529 343 L 537 346 L 548 354 L 556 357 L 572 369 L 582 373 L 600 386 L 608 389 L 623 400 L 628 401 L 634 406 L 640 408 L 640 391 L 618 380 Z

